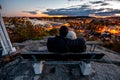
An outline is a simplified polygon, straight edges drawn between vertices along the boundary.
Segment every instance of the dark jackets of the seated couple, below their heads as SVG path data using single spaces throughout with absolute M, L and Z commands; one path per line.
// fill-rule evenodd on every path
M 71 40 L 57 36 L 48 38 L 47 48 L 50 52 L 84 52 L 86 45 L 83 38 Z

